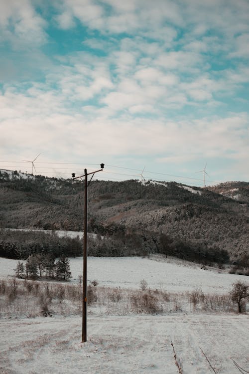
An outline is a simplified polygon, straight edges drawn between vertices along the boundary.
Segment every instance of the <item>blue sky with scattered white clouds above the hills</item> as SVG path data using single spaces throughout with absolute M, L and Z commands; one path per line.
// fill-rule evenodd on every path
M 248 0 L 0 8 L 0 169 L 249 180 Z

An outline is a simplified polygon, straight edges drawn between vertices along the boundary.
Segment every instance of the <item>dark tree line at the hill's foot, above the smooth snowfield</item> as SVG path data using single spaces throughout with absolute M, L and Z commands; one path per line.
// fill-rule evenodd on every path
M 90 224 L 94 225 L 90 220 Z M 227 251 L 210 247 L 207 243 L 193 243 L 165 233 L 127 228 L 110 223 L 100 225 L 100 234 L 88 235 L 88 255 L 99 257 L 148 256 L 161 253 L 181 259 L 203 263 L 227 263 Z M 83 240 L 79 237 L 59 237 L 44 231 L 0 230 L 0 257 L 27 259 L 47 256 L 82 256 Z

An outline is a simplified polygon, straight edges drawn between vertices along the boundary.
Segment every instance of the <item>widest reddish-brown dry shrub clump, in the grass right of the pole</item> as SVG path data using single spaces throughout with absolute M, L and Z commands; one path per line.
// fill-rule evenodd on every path
M 130 297 L 131 310 L 134 313 L 157 314 L 162 312 L 157 297 L 151 292 L 133 294 Z

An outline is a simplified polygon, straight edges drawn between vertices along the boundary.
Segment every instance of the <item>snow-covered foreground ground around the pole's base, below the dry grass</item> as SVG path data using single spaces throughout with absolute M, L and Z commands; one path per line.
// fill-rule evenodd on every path
M 2 374 L 235 374 L 232 359 L 249 369 L 248 315 L 89 317 L 1 321 Z M 4 371 L 5 369 L 5 371 Z

